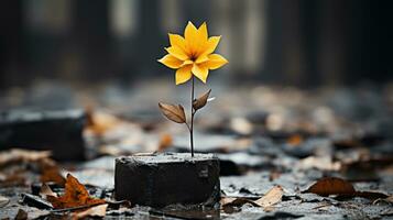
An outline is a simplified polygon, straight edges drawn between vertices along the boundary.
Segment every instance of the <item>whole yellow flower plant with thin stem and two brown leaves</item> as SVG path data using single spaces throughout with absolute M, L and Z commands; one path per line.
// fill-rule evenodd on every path
M 211 89 L 199 98 L 195 99 L 194 78 L 198 78 L 206 84 L 209 70 L 220 68 L 228 63 L 219 54 L 214 54 L 221 36 L 208 37 L 207 25 L 204 22 L 198 29 L 192 22 L 188 22 L 184 37 L 178 34 L 168 34 L 171 46 L 166 47 L 168 53 L 159 59 L 165 66 L 177 69 L 175 74 L 176 85 L 190 80 L 190 121 L 187 122 L 184 108 L 181 105 L 159 103 L 163 114 L 176 123 L 186 124 L 189 131 L 189 144 L 192 156 L 194 157 L 194 116 L 206 106 Z

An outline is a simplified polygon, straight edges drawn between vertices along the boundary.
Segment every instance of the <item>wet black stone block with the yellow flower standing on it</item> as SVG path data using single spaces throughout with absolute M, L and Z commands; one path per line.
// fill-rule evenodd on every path
M 132 204 L 218 207 L 219 161 L 214 154 L 165 153 L 116 160 L 114 197 Z

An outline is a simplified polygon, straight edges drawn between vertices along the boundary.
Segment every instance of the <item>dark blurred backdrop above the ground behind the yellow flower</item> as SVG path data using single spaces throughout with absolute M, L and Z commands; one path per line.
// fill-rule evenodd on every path
M 222 35 L 218 51 L 230 64 L 217 70 L 221 79 L 303 88 L 385 82 L 393 75 L 383 10 L 371 0 L 3 1 L 0 90 L 42 79 L 173 80 L 156 59 L 167 33 L 183 34 L 187 21 Z

